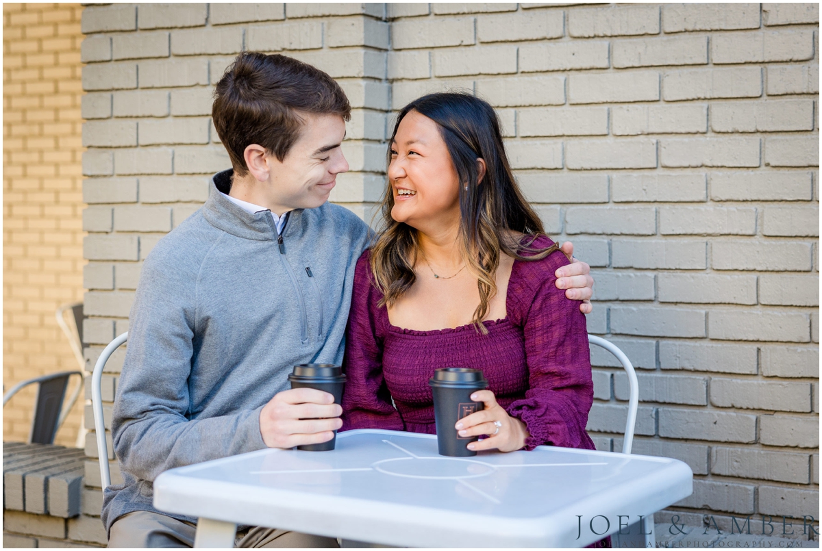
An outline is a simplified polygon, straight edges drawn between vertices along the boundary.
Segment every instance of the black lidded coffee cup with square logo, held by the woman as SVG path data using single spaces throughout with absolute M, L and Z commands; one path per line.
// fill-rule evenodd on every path
M 440 455 L 449 457 L 470 457 L 477 455 L 467 448 L 469 442 L 476 442 L 476 436 L 459 436 L 454 425 L 463 417 L 480 411 L 483 402 L 473 402 L 471 394 L 487 388 L 488 381 L 480 370 L 464 367 L 446 367 L 434 370 L 428 379 L 434 395 L 434 419 L 436 420 L 436 443 Z

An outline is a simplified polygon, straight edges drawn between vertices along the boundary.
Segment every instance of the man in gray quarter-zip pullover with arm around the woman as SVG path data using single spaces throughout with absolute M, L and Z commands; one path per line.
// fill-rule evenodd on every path
M 110 547 L 192 546 L 196 519 L 153 507 L 161 472 L 325 442 L 341 425 L 330 394 L 290 390 L 287 376 L 293 365 L 343 359 L 368 238 L 359 218 L 327 203 L 349 169 L 340 148 L 348 99 L 315 67 L 261 53 L 240 54 L 215 97 L 233 171 L 215 175 L 203 208 L 143 265 L 113 412 L 124 483 L 105 492 Z M 575 276 L 566 287 L 583 287 L 569 297 L 589 298 L 587 264 L 563 269 Z M 241 526 L 238 546 L 336 541 Z

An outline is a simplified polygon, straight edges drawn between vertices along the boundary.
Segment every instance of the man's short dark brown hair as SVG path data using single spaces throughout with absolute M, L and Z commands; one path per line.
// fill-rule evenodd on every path
M 211 118 L 234 172 L 246 174 L 243 153 L 258 144 L 282 161 L 300 135 L 300 113 L 337 114 L 351 105 L 325 72 L 292 57 L 243 52 L 217 83 Z

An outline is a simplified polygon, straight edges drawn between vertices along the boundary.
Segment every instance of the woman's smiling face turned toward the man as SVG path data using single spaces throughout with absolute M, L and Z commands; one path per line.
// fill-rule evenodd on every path
M 417 229 L 458 223 L 459 177 L 440 126 L 411 111 L 399 122 L 390 148 L 391 218 Z

